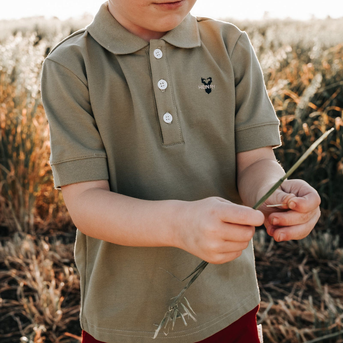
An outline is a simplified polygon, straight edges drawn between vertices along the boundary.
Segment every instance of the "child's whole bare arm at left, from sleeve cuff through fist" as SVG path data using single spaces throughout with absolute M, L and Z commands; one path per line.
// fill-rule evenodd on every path
M 209 263 L 232 261 L 248 247 L 264 215 L 220 197 L 142 200 L 111 192 L 108 180 L 61 186 L 78 229 L 111 243 L 174 246 Z

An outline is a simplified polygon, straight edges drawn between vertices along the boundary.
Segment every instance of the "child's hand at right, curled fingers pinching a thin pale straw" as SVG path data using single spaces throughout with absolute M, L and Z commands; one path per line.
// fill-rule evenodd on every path
M 285 206 L 267 207 L 272 204 Z M 285 180 L 260 210 L 265 214 L 264 226 L 276 241 L 303 239 L 320 217 L 320 197 L 317 191 L 303 180 Z

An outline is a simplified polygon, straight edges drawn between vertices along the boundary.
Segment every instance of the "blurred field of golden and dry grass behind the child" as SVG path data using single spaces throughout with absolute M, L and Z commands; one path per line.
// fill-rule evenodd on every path
M 51 48 L 91 21 L 0 21 L 2 343 L 81 341 L 76 228 L 53 189 L 39 79 Z M 264 228 L 253 237 L 264 342 L 342 343 L 343 18 L 226 21 L 245 30 L 255 48 L 281 121 L 275 154 L 286 170 L 336 128 L 292 175 L 321 196 L 316 228 L 302 240 L 277 243 Z

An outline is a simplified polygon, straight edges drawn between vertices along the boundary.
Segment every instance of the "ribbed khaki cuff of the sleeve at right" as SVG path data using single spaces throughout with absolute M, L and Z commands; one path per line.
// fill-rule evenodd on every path
M 254 126 L 235 131 L 236 153 L 281 145 L 279 123 Z

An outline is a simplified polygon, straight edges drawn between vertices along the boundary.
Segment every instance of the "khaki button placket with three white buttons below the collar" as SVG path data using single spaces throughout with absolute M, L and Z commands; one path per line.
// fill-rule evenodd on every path
M 150 40 L 150 68 L 163 145 L 183 143 L 166 58 L 165 41 Z

